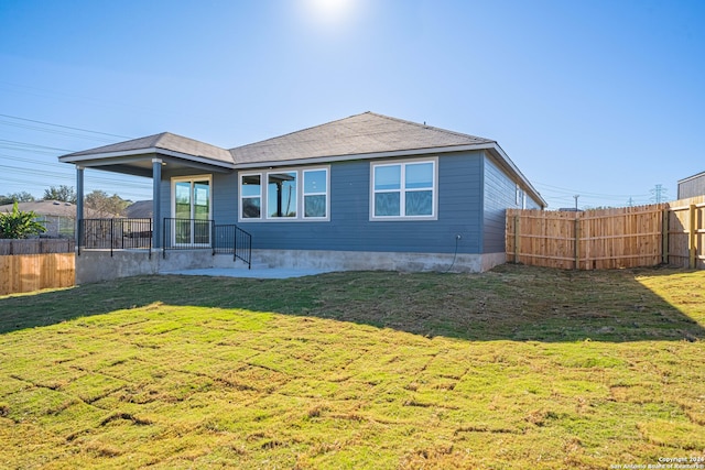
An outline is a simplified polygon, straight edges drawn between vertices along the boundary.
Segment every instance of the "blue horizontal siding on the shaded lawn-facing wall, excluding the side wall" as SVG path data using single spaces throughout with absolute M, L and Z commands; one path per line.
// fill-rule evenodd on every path
M 329 221 L 240 227 L 258 249 L 453 253 L 459 234 L 458 252 L 479 253 L 480 162 L 477 152 L 438 159 L 437 220 L 370 221 L 370 162 L 355 161 L 330 165 Z

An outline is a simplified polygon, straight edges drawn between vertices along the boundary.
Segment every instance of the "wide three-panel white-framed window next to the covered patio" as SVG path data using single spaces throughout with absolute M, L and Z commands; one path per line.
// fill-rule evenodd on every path
M 329 220 L 329 168 L 278 168 L 239 175 L 239 220 Z

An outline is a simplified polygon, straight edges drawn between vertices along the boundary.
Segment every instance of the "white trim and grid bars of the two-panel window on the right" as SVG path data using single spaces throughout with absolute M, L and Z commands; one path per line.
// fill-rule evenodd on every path
M 432 163 L 433 164 L 433 186 L 431 187 L 431 215 L 429 216 L 404 216 L 405 209 L 405 193 L 413 193 L 419 190 L 429 190 L 427 188 L 404 188 L 404 179 L 405 179 L 405 166 L 406 164 L 420 164 L 420 163 Z M 375 168 L 378 166 L 394 166 L 401 165 L 401 181 L 399 189 L 380 189 L 375 190 Z M 399 193 L 400 194 L 400 205 L 399 205 L 399 216 L 376 216 L 375 215 L 375 194 L 377 193 Z M 427 157 L 427 159 L 405 159 L 405 160 L 388 160 L 383 162 L 370 162 L 370 221 L 420 221 L 420 220 L 438 220 L 438 157 Z

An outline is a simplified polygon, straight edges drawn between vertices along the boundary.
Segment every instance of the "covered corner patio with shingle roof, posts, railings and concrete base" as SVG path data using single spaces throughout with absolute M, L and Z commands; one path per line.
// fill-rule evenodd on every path
M 79 282 L 187 269 L 251 267 L 249 233 L 236 220 L 216 221 L 213 211 L 214 177 L 235 170 L 229 151 L 164 132 L 58 160 L 76 167 Z M 86 168 L 151 178 L 152 218 L 85 218 Z M 177 255 L 166 260 L 167 252 Z M 216 256 L 221 254 L 230 261 Z

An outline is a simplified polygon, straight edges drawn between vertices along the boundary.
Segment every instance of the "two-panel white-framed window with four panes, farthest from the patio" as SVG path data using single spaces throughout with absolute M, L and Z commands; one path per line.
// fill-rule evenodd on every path
M 370 165 L 371 220 L 437 218 L 437 159 Z

